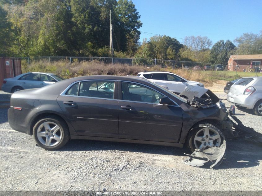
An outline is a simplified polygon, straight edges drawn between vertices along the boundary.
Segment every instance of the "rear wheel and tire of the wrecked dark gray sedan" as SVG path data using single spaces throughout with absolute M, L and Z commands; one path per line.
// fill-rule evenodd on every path
M 70 133 L 64 120 L 56 116 L 46 116 L 34 125 L 33 137 L 43 149 L 57 150 L 69 141 Z

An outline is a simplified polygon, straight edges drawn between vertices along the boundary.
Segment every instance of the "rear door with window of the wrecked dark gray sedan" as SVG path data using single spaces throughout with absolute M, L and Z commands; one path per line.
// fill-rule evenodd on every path
M 101 85 L 104 83 L 110 83 Z M 107 88 L 112 86 L 110 90 Z M 99 88 L 100 87 L 100 88 Z M 118 100 L 115 81 L 81 81 L 57 98 L 79 135 L 118 137 Z

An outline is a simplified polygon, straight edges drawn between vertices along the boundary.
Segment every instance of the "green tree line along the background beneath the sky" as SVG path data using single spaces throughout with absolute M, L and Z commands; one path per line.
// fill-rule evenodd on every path
M 232 54 L 261 54 L 262 31 L 213 43 L 208 37 L 153 36 L 131 0 L 0 0 L 0 56 L 101 56 L 109 50 L 109 11 L 115 57 L 227 64 Z

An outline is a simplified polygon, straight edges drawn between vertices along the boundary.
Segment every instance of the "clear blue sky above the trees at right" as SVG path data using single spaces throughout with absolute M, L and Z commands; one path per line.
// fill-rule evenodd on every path
M 233 41 L 243 33 L 262 30 L 261 0 L 132 0 L 141 15 L 140 41 L 155 33 L 177 37 L 207 36 L 213 43 Z

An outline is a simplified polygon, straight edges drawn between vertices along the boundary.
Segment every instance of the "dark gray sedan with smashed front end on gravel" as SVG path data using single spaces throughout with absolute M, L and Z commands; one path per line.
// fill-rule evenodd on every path
M 186 164 L 212 168 L 223 161 L 226 138 L 261 137 L 233 123 L 234 109 L 208 89 L 190 86 L 178 96 L 136 76 L 72 78 L 15 92 L 10 105 L 10 126 L 46 150 L 70 139 L 186 145 Z

